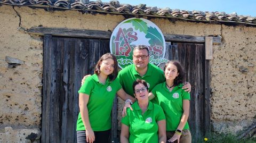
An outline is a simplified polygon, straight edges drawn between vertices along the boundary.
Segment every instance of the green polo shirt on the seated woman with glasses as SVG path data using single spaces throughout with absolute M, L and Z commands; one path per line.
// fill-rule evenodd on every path
M 127 115 L 123 117 L 122 123 L 129 127 L 129 142 L 151 143 L 158 142 L 157 122 L 165 120 L 163 109 L 149 102 L 148 109 L 142 115 L 138 102 L 132 104 L 133 111 L 127 109 Z

